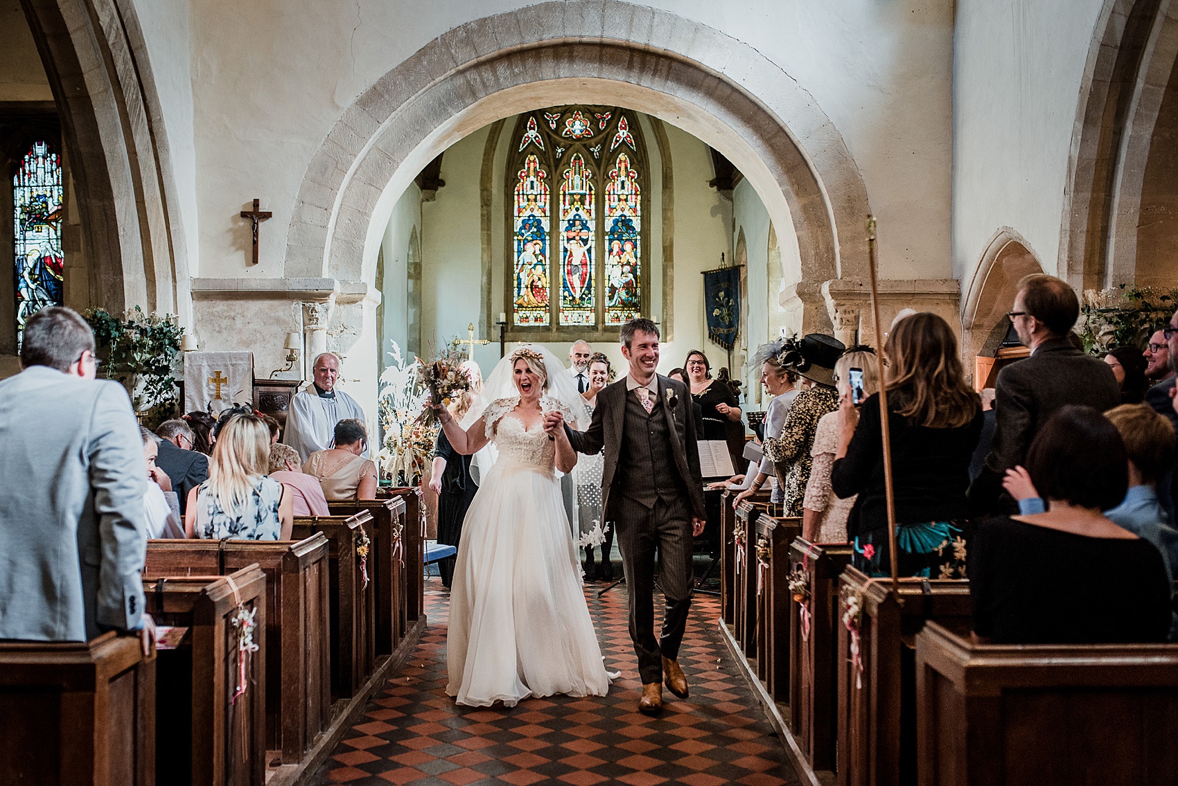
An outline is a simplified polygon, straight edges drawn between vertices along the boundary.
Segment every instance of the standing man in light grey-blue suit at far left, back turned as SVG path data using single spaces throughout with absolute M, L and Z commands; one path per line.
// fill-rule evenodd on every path
M 94 379 L 94 335 L 68 308 L 25 325 L 0 382 L 0 639 L 87 641 L 144 614 L 147 464 L 121 385 Z

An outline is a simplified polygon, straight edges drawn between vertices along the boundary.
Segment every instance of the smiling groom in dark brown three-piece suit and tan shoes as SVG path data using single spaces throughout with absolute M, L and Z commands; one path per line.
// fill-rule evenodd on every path
M 605 451 L 602 502 L 622 549 L 630 595 L 630 638 L 638 657 L 647 715 L 662 712 L 662 681 L 681 699 L 687 678 L 679 666 L 687 610 L 691 604 L 691 537 L 703 532 L 703 481 L 691 397 L 682 382 L 655 373 L 659 326 L 633 319 L 622 326 L 622 354 L 630 373 L 597 394 L 588 431 L 565 426 L 578 453 Z M 560 414 L 545 428 L 561 427 Z M 667 608 L 654 634 L 655 552 Z

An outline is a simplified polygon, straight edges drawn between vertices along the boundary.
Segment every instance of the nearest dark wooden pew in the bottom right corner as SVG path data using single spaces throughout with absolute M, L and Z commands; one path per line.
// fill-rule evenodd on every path
M 921 786 L 1178 780 L 1178 647 L 916 635 Z

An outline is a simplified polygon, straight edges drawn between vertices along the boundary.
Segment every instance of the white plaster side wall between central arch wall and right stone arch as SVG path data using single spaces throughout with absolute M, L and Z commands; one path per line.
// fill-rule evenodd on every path
M 1068 151 L 1101 5 L 958 1 L 954 278 L 971 280 L 1002 226 L 1026 238 L 1045 271 L 1057 273 Z

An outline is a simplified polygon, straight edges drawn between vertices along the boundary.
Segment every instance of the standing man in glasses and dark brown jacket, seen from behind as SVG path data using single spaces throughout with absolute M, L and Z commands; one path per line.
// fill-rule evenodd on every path
M 994 440 L 969 487 L 969 500 L 982 512 L 1014 511 L 1013 500 L 1002 493 L 1002 477 L 1024 462 L 1031 440 L 1055 409 L 1078 404 L 1104 412 L 1120 402 L 1120 386 L 1108 365 L 1068 339 L 1080 302 L 1067 281 L 1027 275 L 1006 315 L 1031 357 L 998 373 Z

